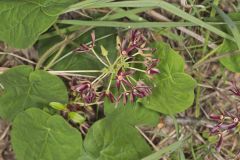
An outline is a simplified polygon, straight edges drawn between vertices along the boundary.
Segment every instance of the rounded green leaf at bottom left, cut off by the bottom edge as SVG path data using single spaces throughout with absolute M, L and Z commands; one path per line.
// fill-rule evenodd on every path
M 12 145 L 17 160 L 75 160 L 83 152 L 81 134 L 62 117 L 30 108 L 13 122 Z

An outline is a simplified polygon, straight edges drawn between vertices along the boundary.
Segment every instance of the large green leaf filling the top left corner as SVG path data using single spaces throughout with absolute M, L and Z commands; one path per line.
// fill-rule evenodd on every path
M 1 0 L 0 40 L 15 48 L 33 45 L 76 0 Z

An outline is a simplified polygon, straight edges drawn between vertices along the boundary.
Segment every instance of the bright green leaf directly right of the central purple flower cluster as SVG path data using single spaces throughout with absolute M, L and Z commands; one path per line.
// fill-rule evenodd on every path
M 143 99 L 146 108 L 164 114 L 176 114 L 194 101 L 196 81 L 184 73 L 184 60 L 169 45 L 158 43 L 160 74 L 154 80 L 153 94 Z

